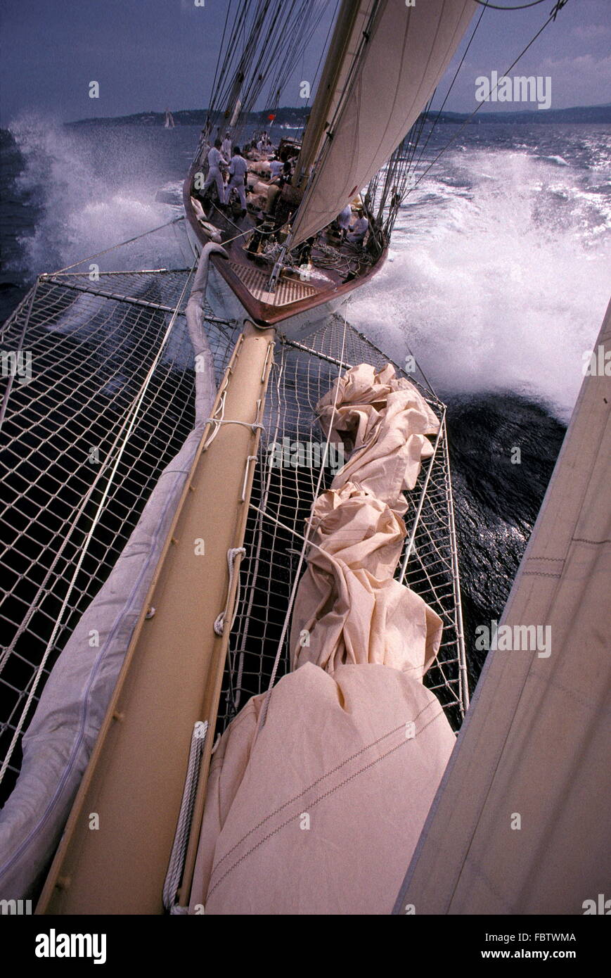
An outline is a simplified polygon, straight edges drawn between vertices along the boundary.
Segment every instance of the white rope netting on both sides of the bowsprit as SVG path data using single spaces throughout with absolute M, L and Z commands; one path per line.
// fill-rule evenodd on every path
M 193 428 L 196 374 L 184 315 L 190 277 L 189 269 L 102 272 L 94 282 L 82 272 L 41 276 L 2 330 L 8 382 L 0 429 L 0 764 L 27 728 L 54 662 L 107 579 L 159 474 Z M 206 332 L 220 380 L 239 329 L 206 307 Z M 343 321 L 330 317 L 305 343 L 281 337 L 276 344 L 219 731 L 269 683 L 325 444 L 315 406 L 338 376 L 343 333 Z M 346 327 L 344 369 L 387 362 Z M 458 729 L 467 691 L 444 407 L 417 370 L 409 378 L 442 419 L 442 432 L 410 494 L 406 524 L 414 546 L 405 583 L 443 619 L 439 659 L 426 683 Z M 133 424 L 118 457 L 127 419 Z M 270 464 L 273 446 L 291 458 L 295 443 L 305 449 L 296 464 Z M 331 453 L 321 491 L 333 464 L 342 462 Z M 284 648 L 279 676 L 286 668 Z M 0 802 L 20 771 L 20 742 Z

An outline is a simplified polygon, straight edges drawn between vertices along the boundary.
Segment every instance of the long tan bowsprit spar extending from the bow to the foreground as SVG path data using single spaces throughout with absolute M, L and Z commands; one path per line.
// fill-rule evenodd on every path
M 243 542 L 273 343 L 273 330 L 245 324 L 212 412 L 218 422 L 205 427 L 39 913 L 163 910 L 189 743 L 196 722 L 208 720 L 196 812 L 203 807 L 240 570 L 236 554 L 228 594 L 227 557 Z M 195 843 L 187 860 L 188 889 Z

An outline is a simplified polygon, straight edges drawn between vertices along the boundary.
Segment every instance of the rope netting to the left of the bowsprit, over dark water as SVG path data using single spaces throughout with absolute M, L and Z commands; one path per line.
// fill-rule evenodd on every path
M 53 663 L 194 426 L 191 278 L 40 276 L 3 328 L 0 763 L 15 748 L 3 799 Z M 206 315 L 220 378 L 235 325 Z

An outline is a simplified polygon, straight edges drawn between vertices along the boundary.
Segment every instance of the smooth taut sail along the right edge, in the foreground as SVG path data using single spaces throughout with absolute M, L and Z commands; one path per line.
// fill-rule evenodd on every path
M 611 303 L 396 913 L 609 912 L 610 351 Z

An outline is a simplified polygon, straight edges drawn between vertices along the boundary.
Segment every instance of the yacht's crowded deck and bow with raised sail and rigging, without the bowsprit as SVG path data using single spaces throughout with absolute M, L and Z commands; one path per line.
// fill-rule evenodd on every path
M 383 266 L 406 190 L 403 139 L 448 66 L 473 10 L 472 0 L 433 2 L 418 11 L 378 0 L 340 4 L 303 140 L 281 140 L 277 156 L 284 176 L 274 181 L 270 154 L 254 141 L 248 154 L 248 186 L 254 193 L 243 218 L 238 202 L 226 208 L 224 201 L 203 198 L 197 190 L 205 185 L 212 135 L 222 135 L 227 120 L 233 123 L 234 144 L 244 134 L 245 113 L 257 91 L 256 41 L 268 24 L 254 22 L 250 60 L 244 53 L 232 62 L 239 34 L 230 36 L 220 60 L 224 71 L 215 79 L 206 126 L 185 181 L 184 203 L 196 247 L 209 241 L 226 246 L 228 258 L 213 257 L 213 265 L 253 323 L 291 320 L 288 329 L 294 331 L 296 324 L 312 319 L 303 314 L 322 304 L 327 309 L 319 316 L 335 308 Z M 238 31 L 240 19 L 237 24 Z M 287 20 L 276 29 L 282 36 L 293 25 Z M 382 167 L 383 189 L 375 195 Z M 364 240 L 354 244 L 350 234 L 347 241 L 343 238 L 336 220 L 349 206 L 353 217 L 364 215 L 368 225 Z

